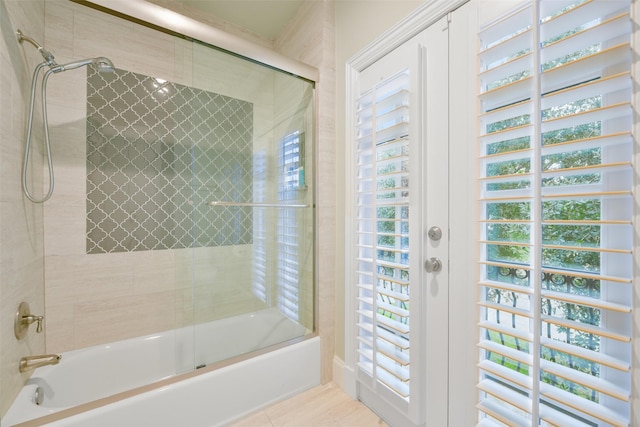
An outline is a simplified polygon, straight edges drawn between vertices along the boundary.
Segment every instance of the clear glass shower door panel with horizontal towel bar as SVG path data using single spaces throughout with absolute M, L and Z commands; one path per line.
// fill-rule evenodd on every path
M 313 85 L 194 44 L 195 366 L 314 329 Z M 250 76 L 237 85 L 237 76 Z

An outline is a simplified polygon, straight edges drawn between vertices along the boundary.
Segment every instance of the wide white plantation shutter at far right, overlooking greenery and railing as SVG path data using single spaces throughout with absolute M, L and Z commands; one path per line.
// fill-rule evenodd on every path
M 479 425 L 630 423 L 630 6 L 481 28 Z

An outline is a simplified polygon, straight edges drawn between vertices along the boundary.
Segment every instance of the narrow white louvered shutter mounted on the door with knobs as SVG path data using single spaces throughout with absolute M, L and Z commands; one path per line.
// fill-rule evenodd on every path
M 409 399 L 408 72 L 358 100 L 358 366 Z

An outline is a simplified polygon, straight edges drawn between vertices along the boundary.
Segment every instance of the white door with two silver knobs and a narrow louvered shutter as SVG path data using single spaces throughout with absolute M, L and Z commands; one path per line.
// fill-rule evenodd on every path
M 443 18 L 357 80 L 355 375 L 392 426 L 447 425 L 448 74 Z

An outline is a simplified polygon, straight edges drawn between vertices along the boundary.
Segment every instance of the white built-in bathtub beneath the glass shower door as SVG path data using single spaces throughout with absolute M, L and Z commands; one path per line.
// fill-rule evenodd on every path
M 306 332 L 267 309 L 69 351 L 60 364 L 35 370 L 1 424 L 224 425 L 320 383 L 319 338 L 300 339 Z

